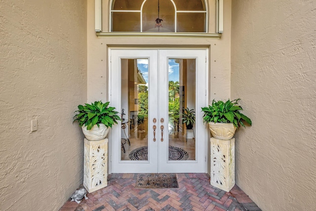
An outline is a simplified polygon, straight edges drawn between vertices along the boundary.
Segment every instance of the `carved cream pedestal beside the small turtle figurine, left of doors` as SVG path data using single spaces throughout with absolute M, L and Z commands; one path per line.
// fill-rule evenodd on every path
M 108 142 L 84 139 L 83 186 L 89 193 L 108 185 Z

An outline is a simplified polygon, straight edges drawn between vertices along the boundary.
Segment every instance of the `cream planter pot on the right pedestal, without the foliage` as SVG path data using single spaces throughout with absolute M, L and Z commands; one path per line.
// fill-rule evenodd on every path
M 233 138 L 237 127 L 233 123 L 208 123 L 208 127 L 214 138 L 230 140 Z

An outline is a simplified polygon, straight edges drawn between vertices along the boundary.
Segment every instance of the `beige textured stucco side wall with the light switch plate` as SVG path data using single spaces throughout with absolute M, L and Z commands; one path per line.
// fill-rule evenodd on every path
M 1 211 L 56 211 L 82 182 L 86 57 L 85 0 L 0 2 Z

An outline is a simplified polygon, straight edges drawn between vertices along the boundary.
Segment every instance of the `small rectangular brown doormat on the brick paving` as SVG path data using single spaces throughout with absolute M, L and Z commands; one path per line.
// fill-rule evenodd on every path
M 136 188 L 179 188 L 175 173 L 139 173 Z

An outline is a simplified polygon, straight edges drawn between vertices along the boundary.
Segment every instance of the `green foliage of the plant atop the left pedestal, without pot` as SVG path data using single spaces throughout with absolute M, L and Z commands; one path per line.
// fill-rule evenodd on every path
M 91 129 L 94 125 L 100 127 L 99 124 L 103 123 L 107 127 L 112 127 L 118 124 L 117 120 L 121 120 L 115 107 L 108 107 L 110 102 L 102 103 L 102 101 L 95 101 L 91 104 L 79 105 L 77 111 L 79 114 L 74 116 L 74 122 L 78 121 L 79 126 L 86 126 Z

